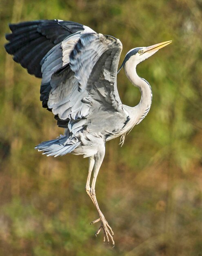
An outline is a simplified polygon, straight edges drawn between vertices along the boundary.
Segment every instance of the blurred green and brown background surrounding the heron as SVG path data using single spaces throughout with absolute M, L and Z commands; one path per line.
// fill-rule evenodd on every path
M 127 135 L 107 142 L 96 195 L 115 233 L 103 244 L 85 192 L 88 160 L 34 150 L 63 132 L 41 107 L 40 79 L 6 54 L 9 22 L 73 20 L 129 49 L 173 43 L 138 66 L 153 103 Z M 202 0 L 0 1 L 0 256 L 202 255 Z M 140 92 L 118 74 L 124 104 Z

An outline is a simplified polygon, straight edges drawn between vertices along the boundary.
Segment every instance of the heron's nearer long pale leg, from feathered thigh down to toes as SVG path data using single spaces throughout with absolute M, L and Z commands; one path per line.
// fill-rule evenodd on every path
M 113 240 L 113 231 L 111 229 L 111 227 L 109 226 L 107 220 L 105 219 L 102 211 L 100 211 L 100 207 L 98 205 L 98 201 L 95 195 L 95 183 L 96 183 L 96 179 L 98 176 L 98 172 L 100 170 L 100 166 L 102 164 L 102 161 L 104 159 L 104 153 L 105 153 L 105 148 L 102 148 L 102 150 L 100 150 L 96 155 L 95 155 L 95 164 L 94 164 L 94 168 L 93 168 L 93 180 L 92 180 L 92 184 L 91 184 L 91 190 L 90 190 L 90 195 L 91 195 L 91 199 L 93 200 L 93 203 L 98 211 L 99 214 L 99 219 L 92 221 L 91 223 L 96 223 L 98 221 L 101 221 L 101 226 L 98 229 L 98 231 L 95 233 L 95 236 L 97 236 L 101 229 L 103 229 L 104 232 L 104 242 L 107 239 L 107 242 L 109 243 L 109 237 L 111 238 L 111 241 L 113 243 L 113 245 L 115 245 L 114 240 Z

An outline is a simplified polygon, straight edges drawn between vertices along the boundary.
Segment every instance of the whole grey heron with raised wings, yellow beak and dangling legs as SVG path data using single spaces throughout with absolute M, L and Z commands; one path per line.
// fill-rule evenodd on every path
M 138 76 L 136 66 L 171 41 L 131 49 L 120 67 L 141 92 L 137 106 L 122 104 L 117 90 L 117 71 L 122 44 L 113 36 L 96 33 L 76 22 L 35 20 L 10 24 L 5 49 L 29 74 L 42 78 L 40 100 L 53 112 L 64 135 L 36 146 L 47 156 L 67 153 L 89 157 L 86 192 L 98 211 L 104 241 L 113 231 L 95 196 L 95 182 L 104 159 L 105 142 L 139 124 L 151 107 L 149 83 Z M 119 69 L 119 70 L 120 70 Z M 93 171 L 92 182 L 91 173 Z

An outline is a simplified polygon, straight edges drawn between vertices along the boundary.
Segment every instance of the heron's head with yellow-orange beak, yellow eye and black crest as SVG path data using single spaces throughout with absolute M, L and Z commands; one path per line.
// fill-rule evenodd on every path
M 155 52 L 158 52 L 159 49 L 165 47 L 166 45 L 169 45 L 171 42 L 172 41 L 166 41 L 166 42 L 158 43 L 156 45 L 151 45 L 148 47 L 137 47 L 137 48 L 131 49 L 126 54 L 124 61 L 121 65 L 120 69 L 118 70 L 118 72 L 121 70 L 122 67 L 124 67 L 124 65 L 127 63 L 127 61 L 129 61 L 129 60 L 133 61 L 133 64 L 136 66 L 140 62 L 146 60 L 147 58 L 149 58 L 150 56 L 155 54 Z

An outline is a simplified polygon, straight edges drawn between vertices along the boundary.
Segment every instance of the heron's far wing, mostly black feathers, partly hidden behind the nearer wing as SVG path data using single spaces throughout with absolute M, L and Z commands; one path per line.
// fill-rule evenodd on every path
M 42 106 L 47 108 L 51 75 L 68 62 L 67 59 L 62 60 L 62 54 L 66 57 L 68 51 L 70 54 L 76 38 L 78 39 L 81 34 L 95 33 L 95 31 L 77 22 L 63 20 L 26 21 L 10 24 L 9 27 L 12 33 L 6 34 L 9 43 L 5 45 L 5 49 L 13 55 L 14 61 L 27 69 L 29 74 L 42 78 L 43 73 L 40 100 Z M 62 52 L 62 42 L 67 42 L 65 38 L 71 35 L 73 37 L 68 40 L 69 44 L 66 44 L 66 48 L 63 47 L 64 52 Z M 57 53 L 55 47 L 58 49 Z M 51 55 L 53 51 L 55 55 Z M 46 62 L 42 69 L 47 54 L 48 63 Z

